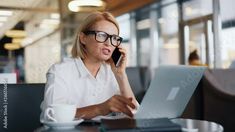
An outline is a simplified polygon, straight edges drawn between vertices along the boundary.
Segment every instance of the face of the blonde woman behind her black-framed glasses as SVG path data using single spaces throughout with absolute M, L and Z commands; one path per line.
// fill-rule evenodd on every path
M 106 20 L 96 22 L 91 30 L 102 31 L 109 35 L 118 35 L 117 27 Z M 111 57 L 115 49 L 110 42 L 110 38 L 103 43 L 96 41 L 95 34 L 83 34 L 82 38 L 82 43 L 86 48 L 86 59 L 91 59 L 93 61 L 106 61 Z

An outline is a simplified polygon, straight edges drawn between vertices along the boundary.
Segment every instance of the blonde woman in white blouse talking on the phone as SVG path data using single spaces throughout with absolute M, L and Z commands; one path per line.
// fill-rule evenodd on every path
M 51 104 L 76 104 L 76 117 L 91 119 L 110 112 L 133 116 L 138 106 L 128 82 L 126 50 L 120 46 L 119 26 L 108 12 L 89 15 L 80 26 L 72 58 L 47 73 L 42 109 Z M 110 58 L 118 47 L 123 58 L 115 67 Z

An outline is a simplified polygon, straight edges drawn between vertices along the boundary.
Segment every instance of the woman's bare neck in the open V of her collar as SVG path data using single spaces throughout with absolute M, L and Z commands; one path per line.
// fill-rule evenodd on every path
M 92 60 L 88 58 L 85 58 L 82 61 L 84 65 L 86 66 L 86 68 L 88 69 L 88 71 L 91 73 L 91 75 L 96 77 L 102 63 L 100 61 L 96 61 L 96 60 Z

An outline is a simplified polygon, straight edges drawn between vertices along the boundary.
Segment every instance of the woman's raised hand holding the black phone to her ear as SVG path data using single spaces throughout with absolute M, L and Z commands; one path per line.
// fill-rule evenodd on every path
M 111 69 L 115 75 L 123 74 L 125 73 L 126 70 L 126 61 L 127 61 L 126 49 L 122 46 L 119 46 L 118 49 L 122 53 L 122 58 L 120 60 L 119 65 L 116 67 L 112 58 L 108 60 L 108 62 L 111 65 Z

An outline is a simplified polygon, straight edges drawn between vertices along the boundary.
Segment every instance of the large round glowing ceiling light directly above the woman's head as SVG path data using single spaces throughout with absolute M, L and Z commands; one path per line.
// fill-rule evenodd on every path
M 80 7 L 104 7 L 102 0 L 72 0 L 68 4 L 70 11 L 78 12 Z

